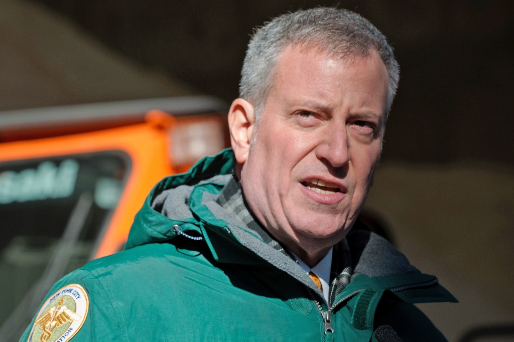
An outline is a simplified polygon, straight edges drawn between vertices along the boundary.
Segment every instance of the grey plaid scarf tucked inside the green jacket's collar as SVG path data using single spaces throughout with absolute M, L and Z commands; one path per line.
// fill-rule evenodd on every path
M 235 175 L 225 184 L 216 202 L 243 221 L 250 231 L 259 236 L 272 248 L 296 261 L 296 258 L 289 250 L 271 236 L 255 215 L 253 215 L 243 195 L 241 183 Z M 331 270 L 329 302 L 332 304 L 336 295 L 350 283 L 352 276 L 352 258 L 346 239 L 334 245 Z

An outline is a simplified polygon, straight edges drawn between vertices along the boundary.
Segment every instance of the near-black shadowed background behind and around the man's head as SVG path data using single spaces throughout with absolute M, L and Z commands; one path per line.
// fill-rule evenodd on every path
M 230 102 L 249 35 L 317 5 L 368 18 L 401 68 L 382 160 L 514 165 L 514 2 L 38 0 L 108 47 Z

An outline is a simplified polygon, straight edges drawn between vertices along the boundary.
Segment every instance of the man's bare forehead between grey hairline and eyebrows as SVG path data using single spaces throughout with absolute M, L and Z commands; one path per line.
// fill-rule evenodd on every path
M 386 106 L 388 73 L 375 50 L 341 58 L 317 48 L 288 46 L 273 74 L 270 97 L 332 105 Z M 360 99 L 360 100 L 359 100 Z M 352 100 L 352 101 L 350 101 Z M 357 100 L 357 101 L 356 101 Z M 376 108 L 375 108 L 376 109 Z

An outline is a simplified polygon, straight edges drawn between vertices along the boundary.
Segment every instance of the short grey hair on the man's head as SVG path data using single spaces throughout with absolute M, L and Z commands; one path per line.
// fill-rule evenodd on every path
M 240 97 L 255 108 L 258 121 L 273 87 L 273 71 L 287 46 L 317 47 L 342 58 L 367 56 L 375 49 L 386 65 L 389 88 L 385 109 L 391 109 L 400 70 L 386 37 L 352 11 L 318 7 L 278 16 L 257 29 L 248 43 L 241 70 Z

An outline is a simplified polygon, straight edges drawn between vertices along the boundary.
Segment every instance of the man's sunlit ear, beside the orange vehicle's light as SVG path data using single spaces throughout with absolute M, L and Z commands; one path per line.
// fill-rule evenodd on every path
M 250 141 L 255 127 L 253 105 L 243 99 L 235 99 L 228 112 L 230 143 L 237 163 L 243 164 L 248 158 Z

